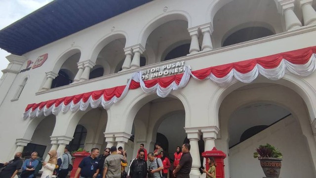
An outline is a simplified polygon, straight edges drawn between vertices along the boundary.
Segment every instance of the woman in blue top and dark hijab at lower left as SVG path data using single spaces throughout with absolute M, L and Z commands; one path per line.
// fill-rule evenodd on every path
M 24 161 L 20 178 L 34 178 L 34 171 L 39 165 L 38 153 L 33 152 L 31 158 Z

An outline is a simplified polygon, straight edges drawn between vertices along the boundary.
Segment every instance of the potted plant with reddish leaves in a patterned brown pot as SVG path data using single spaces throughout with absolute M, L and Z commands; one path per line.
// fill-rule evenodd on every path
M 280 175 L 282 153 L 271 144 L 259 145 L 254 158 L 258 158 L 260 165 L 267 178 L 278 178 Z

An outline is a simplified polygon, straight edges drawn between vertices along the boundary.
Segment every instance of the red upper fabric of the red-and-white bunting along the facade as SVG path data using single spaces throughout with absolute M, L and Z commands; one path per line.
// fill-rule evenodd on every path
M 229 74 L 232 69 L 235 69 L 236 71 L 242 74 L 246 74 L 250 72 L 251 70 L 253 70 L 253 68 L 257 64 L 261 65 L 265 69 L 273 69 L 273 68 L 276 68 L 280 64 L 282 59 L 285 59 L 293 64 L 306 64 L 311 58 L 311 55 L 314 55 L 314 53 L 316 53 L 316 46 L 283 52 L 283 53 L 274 54 L 274 55 L 265 56 L 265 57 L 259 57 L 255 59 L 234 62 L 230 64 L 208 67 L 205 69 L 192 71 L 192 74 L 199 80 L 203 80 L 207 78 L 208 76 L 210 76 L 210 74 L 213 74 L 217 78 L 223 78 L 227 74 Z M 147 88 L 151 88 L 157 84 L 160 87 L 166 88 L 172 82 L 175 82 L 177 85 L 179 85 L 182 77 L 183 77 L 183 74 L 177 74 L 173 76 L 144 81 L 144 83 Z M 77 94 L 73 96 L 67 96 L 67 97 L 62 97 L 58 99 L 43 101 L 40 103 L 28 104 L 27 107 L 25 108 L 25 112 L 29 111 L 30 109 L 34 111 L 38 107 L 39 109 L 42 109 L 44 106 L 46 108 L 49 108 L 53 104 L 55 104 L 55 107 L 58 107 L 61 103 L 68 105 L 72 101 L 74 102 L 74 104 L 76 104 L 81 99 L 83 102 L 86 102 L 90 96 L 92 96 L 93 100 L 97 100 L 101 96 L 103 96 L 106 101 L 109 101 L 114 96 L 120 97 L 125 87 L 126 86 L 118 86 L 111 89 L 101 89 L 101 90 L 90 91 L 90 92 L 81 93 L 81 94 Z M 129 89 L 138 89 L 138 88 L 140 88 L 140 83 L 132 80 L 129 85 Z

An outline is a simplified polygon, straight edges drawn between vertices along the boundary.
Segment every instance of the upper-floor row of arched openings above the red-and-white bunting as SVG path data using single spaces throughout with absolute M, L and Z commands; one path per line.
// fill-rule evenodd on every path
M 212 23 L 209 24 L 213 48 L 234 45 L 284 31 L 282 26 L 284 20 L 278 13 L 274 0 L 224 0 L 218 3 L 223 4 L 220 8 L 217 7 L 218 4 L 214 5 L 213 8 L 218 10 L 212 15 Z M 145 26 L 140 40 L 140 45 L 145 49 L 138 50 L 140 62 L 136 66 L 142 67 L 188 55 L 192 47 L 192 37 L 188 31 L 188 28 L 191 28 L 190 23 L 190 14 L 175 11 L 165 13 Z M 125 32 L 113 32 L 101 39 L 91 51 L 88 60 L 90 69 L 85 77 L 80 75 L 88 65 L 82 64 L 80 72 L 79 63 L 86 62 L 81 53 L 89 52 L 79 48 L 64 52 L 52 69 L 58 76 L 50 84 L 50 88 L 118 73 L 122 70 L 127 51 L 130 50 L 131 54 L 135 53 L 133 46 L 126 46 L 127 40 Z M 198 35 L 200 46 L 202 40 L 203 34 Z

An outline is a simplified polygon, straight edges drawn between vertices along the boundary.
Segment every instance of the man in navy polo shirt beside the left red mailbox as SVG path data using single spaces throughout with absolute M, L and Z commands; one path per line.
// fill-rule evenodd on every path
M 96 178 L 99 174 L 99 148 L 92 148 L 91 155 L 82 159 L 76 171 L 75 178 Z

